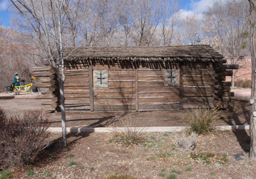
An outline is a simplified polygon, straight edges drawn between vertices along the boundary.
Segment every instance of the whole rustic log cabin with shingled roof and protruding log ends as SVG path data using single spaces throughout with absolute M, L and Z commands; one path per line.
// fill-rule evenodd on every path
M 151 111 L 227 107 L 237 65 L 209 45 L 164 47 L 72 47 L 63 51 L 66 110 Z M 53 69 L 33 68 L 45 110 L 59 109 Z

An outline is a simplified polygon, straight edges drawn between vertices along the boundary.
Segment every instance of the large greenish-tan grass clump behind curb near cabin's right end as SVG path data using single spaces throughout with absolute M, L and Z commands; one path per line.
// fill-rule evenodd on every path
M 220 106 L 212 108 L 194 108 L 185 110 L 183 118 L 188 125 L 188 132 L 195 132 L 197 135 L 206 135 L 216 130 L 215 121 L 224 114 Z

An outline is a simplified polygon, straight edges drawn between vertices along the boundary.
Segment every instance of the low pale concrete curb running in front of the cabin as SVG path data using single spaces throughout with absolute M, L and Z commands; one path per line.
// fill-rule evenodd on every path
M 125 127 L 118 127 L 117 129 L 124 129 Z M 131 127 L 131 129 L 136 131 L 143 131 L 143 132 L 179 132 L 186 129 L 185 126 L 174 126 L 174 127 Z M 249 125 L 222 125 L 218 126 L 217 130 L 232 130 L 232 129 L 239 129 L 239 130 L 248 130 Z M 48 129 L 50 132 L 62 132 L 61 127 L 50 127 Z M 113 131 L 112 127 L 67 127 L 67 132 L 111 132 Z

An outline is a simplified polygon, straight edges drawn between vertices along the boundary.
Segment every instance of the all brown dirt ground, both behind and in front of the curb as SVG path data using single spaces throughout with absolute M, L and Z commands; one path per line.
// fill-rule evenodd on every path
M 42 109 L 33 98 L 0 100 L 8 115 Z M 141 113 L 68 112 L 67 126 L 121 126 L 129 119 L 137 126 L 183 126 L 184 111 Z M 217 125 L 247 125 L 249 103 L 233 100 Z M 51 114 L 52 126 L 61 126 L 60 114 Z M 247 130 L 218 131 L 199 136 L 193 151 L 177 148 L 177 133 L 144 133 L 146 142 L 125 148 L 112 142 L 111 133 L 68 133 L 68 146 L 61 147 L 61 134 L 52 133 L 54 148 L 44 151 L 33 165 L 12 168 L 12 178 L 106 178 L 131 175 L 136 178 L 256 178 L 255 162 L 248 158 Z M 175 176 L 174 176 L 175 175 Z

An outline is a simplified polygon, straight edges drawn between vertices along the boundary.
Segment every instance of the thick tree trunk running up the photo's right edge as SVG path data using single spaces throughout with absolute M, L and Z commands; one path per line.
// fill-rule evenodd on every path
M 256 161 L 256 0 L 250 2 L 250 41 L 251 41 L 251 68 L 252 86 L 250 100 L 250 158 Z

